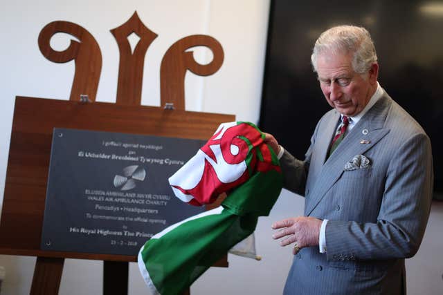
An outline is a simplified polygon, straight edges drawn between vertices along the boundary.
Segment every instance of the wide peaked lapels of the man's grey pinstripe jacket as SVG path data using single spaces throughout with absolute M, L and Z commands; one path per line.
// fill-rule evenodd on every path
M 390 98 L 387 95 L 383 95 L 383 97 L 381 97 L 381 99 L 370 108 L 368 113 L 366 113 L 354 126 L 352 131 L 345 136 L 334 153 L 332 153 L 325 164 L 323 164 L 316 177 L 314 185 L 311 187 L 309 199 L 307 199 L 305 204 L 305 216 L 311 214 L 311 212 L 317 207 L 318 203 L 323 200 L 327 191 L 329 191 L 329 189 L 331 189 L 341 177 L 343 168 L 347 162 L 352 160 L 355 155 L 361 155 L 368 151 L 368 149 L 372 148 L 372 146 L 377 144 L 381 138 L 388 134 L 389 129 L 383 129 L 383 124 L 386 121 L 390 105 Z M 334 128 L 336 126 L 336 124 L 331 125 L 333 127 L 329 134 L 334 133 Z M 322 144 L 320 146 L 322 149 L 320 158 L 324 161 L 331 137 L 323 137 L 329 138 L 328 142 L 319 142 L 319 144 Z M 361 143 L 362 141 L 365 143 Z

